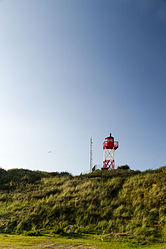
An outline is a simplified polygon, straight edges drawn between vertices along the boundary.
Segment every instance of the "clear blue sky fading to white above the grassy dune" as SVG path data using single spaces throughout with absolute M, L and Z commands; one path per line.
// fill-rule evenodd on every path
M 1 0 L 0 166 L 166 165 L 166 1 Z

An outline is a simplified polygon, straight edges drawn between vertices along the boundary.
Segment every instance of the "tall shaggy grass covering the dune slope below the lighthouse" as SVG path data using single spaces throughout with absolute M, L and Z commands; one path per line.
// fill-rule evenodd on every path
M 140 172 L 124 166 L 74 177 L 0 169 L 0 232 L 166 240 L 166 167 Z

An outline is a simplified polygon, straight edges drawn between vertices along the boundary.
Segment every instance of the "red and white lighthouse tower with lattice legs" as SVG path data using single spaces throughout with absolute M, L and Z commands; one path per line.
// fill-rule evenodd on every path
M 103 143 L 103 169 L 114 169 L 114 152 L 118 148 L 118 142 L 114 141 L 114 137 L 106 137 Z

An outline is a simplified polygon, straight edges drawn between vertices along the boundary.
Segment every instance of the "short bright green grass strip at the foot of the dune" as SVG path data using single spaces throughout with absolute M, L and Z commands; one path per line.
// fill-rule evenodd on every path
M 101 236 L 82 236 L 80 237 L 62 237 L 62 236 L 41 236 L 41 237 L 29 237 L 22 235 L 0 235 L 0 248 L 31 248 L 31 249 L 39 249 L 39 248 L 47 248 L 46 245 L 52 246 L 51 248 L 59 248 L 58 245 L 61 245 L 61 248 L 69 248 L 68 245 L 75 246 L 83 246 L 82 248 L 86 248 L 86 246 L 96 248 L 96 249 L 165 249 L 166 244 L 151 244 L 151 245 L 139 245 L 139 244 L 131 244 L 129 242 L 103 242 L 101 241 Z M 71 247 L 70 247 L 71 248 Z

